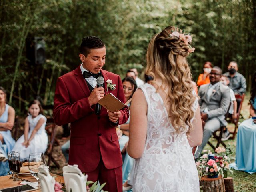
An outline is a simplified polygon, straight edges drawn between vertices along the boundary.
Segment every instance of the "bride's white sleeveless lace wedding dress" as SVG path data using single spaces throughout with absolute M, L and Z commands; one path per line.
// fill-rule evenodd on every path
M 134 192 L 199 192 L 199 178 L 185 133 L 175 134 L 160 94 L 140 86 L 148 104 L 148 130 L 142 157 L 136 159 Z M 196 110 L 198 100 L 192 110 Z

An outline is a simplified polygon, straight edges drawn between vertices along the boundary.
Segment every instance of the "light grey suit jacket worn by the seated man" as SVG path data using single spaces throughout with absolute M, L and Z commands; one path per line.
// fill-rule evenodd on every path
M 198 96 L 200 97 L 200 111 L 204 112 L 207 107 L 208 118 L 217 117 L 220 120 L 221 126 L 226 126 L 228 123 L 225 120 L 225 114 L 228 111 L 230 104 L 230 88 L 222 83 L 219 83 L 211 96 L 207 99 L 207 90 L 210 84 L 200 86 Z

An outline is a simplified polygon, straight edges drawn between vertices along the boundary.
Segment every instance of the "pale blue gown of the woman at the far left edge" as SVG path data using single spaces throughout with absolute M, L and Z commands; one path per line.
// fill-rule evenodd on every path
M 9 109 L 9 105 L 6 104 L 4 113 L 0 117 L 1 123 L 6 123 L 8 121 L 8 109 Z M 4 138 L 4 144 L 2 144 L 2 142 L 0 142 L 0 152 L 2 154 L 5 154 L 7 157 L 7 152 L 12 150 L 12 148 L 15 144 L 15 140 L 12 138 L 12 134 L 11 134 L 10 130 L 0 131 L 0 134 L 2 134 L 2 136 Z M 9 170 L 10 169 L 9 169 L 8 161 L 0 162 L 0 176 L 7 175 Z

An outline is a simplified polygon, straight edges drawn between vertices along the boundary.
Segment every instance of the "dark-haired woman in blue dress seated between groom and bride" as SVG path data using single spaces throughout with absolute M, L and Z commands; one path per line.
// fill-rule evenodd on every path
M 122 84 L 126 101 L 128 101 L 130 98 L 132 98 L 132 95 L 137 89 L 136 81 L 132 77 L 126 77 L 122 80 Z M 128 107 L 130 107 L 130 104 L 128 104 Z M 133 159 L 128 155 L 128 153 L 126 153 L 126 147 L 129 140 L 129 122 L 130 118 L 125 124 L 122 124 L 119 127 L 120 130 L 122 130 L 122 137 L 119 139 L 119 145 L 123 156 L 123 182 L 127 180 L 133 164 Z

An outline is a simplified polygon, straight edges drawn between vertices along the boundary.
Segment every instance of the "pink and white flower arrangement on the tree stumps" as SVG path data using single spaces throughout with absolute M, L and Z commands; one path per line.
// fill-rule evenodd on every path
M 232 154 L 230 146 L 226 149 L 218 147 L 215 154 L 210 150 L 203 150 L 204 154 L 197 160 L 196 166 L 200 176 L 207 175 L 209 178 L 216 178 L 221 174 L 224 178 L 228 176 L 228 172 L 233 173 L 229 168 L 230 158 Z

